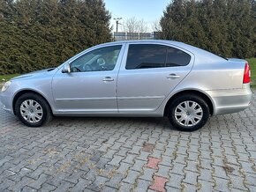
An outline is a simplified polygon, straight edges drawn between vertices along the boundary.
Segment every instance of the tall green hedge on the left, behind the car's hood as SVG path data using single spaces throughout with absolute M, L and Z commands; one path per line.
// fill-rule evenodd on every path
M 55 67 L 111 40 L 102 0 L 0 2 L 0 74 Z

